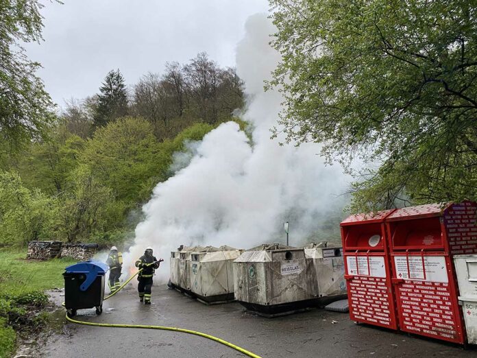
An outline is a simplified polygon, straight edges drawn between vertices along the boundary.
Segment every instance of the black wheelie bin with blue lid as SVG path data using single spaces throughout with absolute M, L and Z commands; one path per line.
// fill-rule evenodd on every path
M 64 307 L 70 317 L 78 309 L 95 307 L 96 314 L 103 312 L 104 276 L 108 265 L 86 261 L 66 267 L 64 277 Z

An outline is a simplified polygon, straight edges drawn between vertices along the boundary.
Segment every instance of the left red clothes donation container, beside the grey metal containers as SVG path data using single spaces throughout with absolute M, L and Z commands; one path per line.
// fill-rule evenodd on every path
M 397 329 L 384 220 L 393 213 L 352 215 L 341 222 L 350 318 Z

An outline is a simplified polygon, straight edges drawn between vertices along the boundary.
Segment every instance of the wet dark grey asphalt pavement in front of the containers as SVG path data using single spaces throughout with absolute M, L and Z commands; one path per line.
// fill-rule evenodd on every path
M 58 298 L 57 298 L 58 299 Z M 134 289 L 103 304 L 103 314 L 78 311 L 77 320 L 175 326 L 215 335 L 262 357 L 477 357 L 477 348 L 354 324 L 347 313 L 315 309 L 278 318 L 252 315 L 238 303 L 206 306 L 167 287 L 153 287 L 151 306 Z M 51 335 L 42 357 L 244 357 L 202 337 L 170 331 L 68 323 Z

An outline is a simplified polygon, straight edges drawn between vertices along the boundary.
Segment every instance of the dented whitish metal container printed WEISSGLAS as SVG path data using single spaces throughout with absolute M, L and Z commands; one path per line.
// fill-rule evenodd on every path
M 316 303 L 315 267 L 303 248 L 261 245 L 243 252 L 233 267 L 235 299 L 251 311 L 271 317 Z

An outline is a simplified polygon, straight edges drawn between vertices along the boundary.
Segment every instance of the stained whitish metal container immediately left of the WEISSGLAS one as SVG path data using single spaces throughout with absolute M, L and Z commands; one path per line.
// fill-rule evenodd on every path
M 234 300 L 234 272 L 232 263 L 241 250 L 230 246 L 208 246 L 191 254 L 191 292 L 204 303 Z

